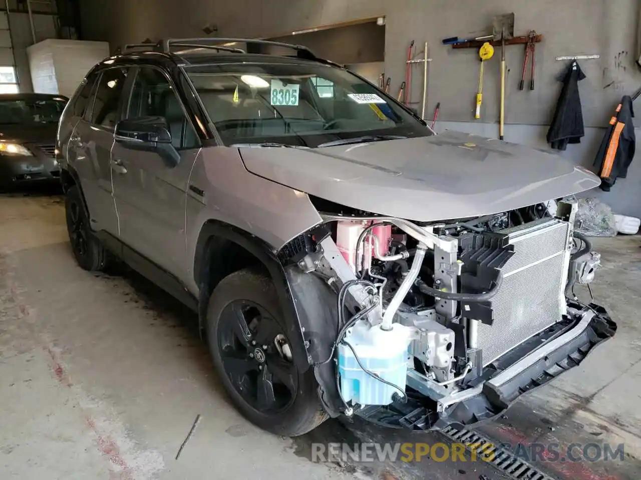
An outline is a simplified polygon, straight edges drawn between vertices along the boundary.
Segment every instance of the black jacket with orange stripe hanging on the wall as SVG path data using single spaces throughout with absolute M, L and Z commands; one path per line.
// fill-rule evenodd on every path
M 624 179 L 628 175 L 628 167 L 637 148 L 635 125 L 632 123 L 634 116 L 632 99 L 629 95 L 624 95 L 617 106 L 616 116 L 610 119 L 608 131 L 594 159 L 594 166 L 599 169 L 602 190 L 609 191 L 617 177 Z

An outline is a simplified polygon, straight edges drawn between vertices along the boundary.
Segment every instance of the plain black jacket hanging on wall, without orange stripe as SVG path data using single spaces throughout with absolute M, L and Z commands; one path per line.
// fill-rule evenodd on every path
M 584 78 L 585 74 L 576 60 L 568 65 L 560 78 L 563 88 L 556 104 L 554 119 L 547 131 L 547 142 L 552 144 L 552 148 L 565 150 L 568 143 L 580 143 L 581 137 L 585 135 L 579 97 L 579 81 Z

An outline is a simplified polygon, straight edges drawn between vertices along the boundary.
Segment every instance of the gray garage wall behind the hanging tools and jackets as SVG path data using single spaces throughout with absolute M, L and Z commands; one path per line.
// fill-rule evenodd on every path
M 430 64 L 428 108 L 441 102 L 440 120 L 459 130 L 483 130 L 497 135 L 499 116 L 499 55 L 486 65 L 482 121 L 473 120 L 478 85 L 476 52 L 454 50 L 440 44 L 448 36 L 478 36 L 491 31 L 492 17 L 513 11 L 517 35 L 535 29 L 544 35 L 537 45 L 537 88 L 519 92 L 524 47 L 506 52 L 508 83 L 506 140 L 544 144 L 560 92 L 556 76 L 563 69 L 556 56 L 599 54 L 599 60 L 581 62 L 587 79 L 581 82 L 587 136 L 581 145 L 570 145 L 566 154 L 588 164 L 620 97 L 641 87 L 635 65 L 639 5 L 637 0 L 84 0 L 83 33 L 87 40 L 107 40 L 117 45 L 163 36 L 203 36 L 201 29 L 217 24 L 219 36 L 274 37 L 306 28 L 385 15 L 385 72 L 392 77 L 392 92 L 404 77 L 404 59 L 410 40 L 428 42 Z M 412 101 L 419 102 L 420 67 L 415 67 Z M 414 106 L 418 106 L 415 103 Z M 641 109 L 641 107 L 640 107 Z M 641 111 L 641 110 L 640 110 Z M 484 126 L 487 124 L 487 126 Z M 637 159 L 630 178 L 606 196 L 620 212 L 641 216 L 641 172 Z

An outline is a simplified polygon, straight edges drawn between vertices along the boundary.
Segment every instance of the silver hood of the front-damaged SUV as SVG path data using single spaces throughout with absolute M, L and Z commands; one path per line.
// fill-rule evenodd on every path
M 249 172 L 354 209 L 415 221 L 481 216 L 600 184 L 538 150 L 461 132 L 336 147 L 241 148 Z

